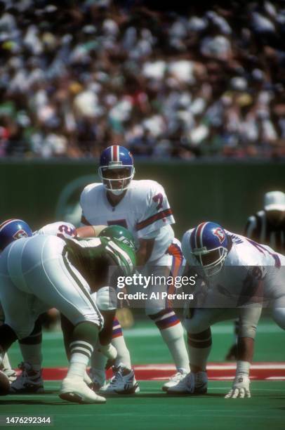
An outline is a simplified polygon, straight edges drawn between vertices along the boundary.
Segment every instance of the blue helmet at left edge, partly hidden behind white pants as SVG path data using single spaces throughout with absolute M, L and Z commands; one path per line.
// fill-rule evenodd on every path
M 32 235 L 32 229 L 22 219 L 7 219 L 0 224 L 0 249 L 6 248 L 13 240 Z

